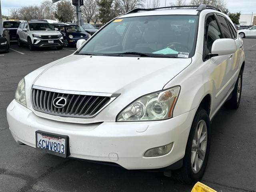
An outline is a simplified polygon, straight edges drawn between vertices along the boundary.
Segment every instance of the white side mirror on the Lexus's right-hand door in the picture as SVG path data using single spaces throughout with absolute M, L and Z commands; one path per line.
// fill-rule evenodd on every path
M 234 39 L 217 39 L 212 44 L 213 56 L 233 54 L 236 50 L 236 42 Z

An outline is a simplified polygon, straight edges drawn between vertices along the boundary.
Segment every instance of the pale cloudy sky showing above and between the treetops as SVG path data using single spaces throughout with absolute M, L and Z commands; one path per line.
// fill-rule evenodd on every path
M 11 8 L 20 8 L 22 6 L 40 4 L 43 0 L 0 0 L 2 6 L 2 14 L 10 14 Z M 166 6 L 170 3 L 175 3 L 176 0 L 166 0 Z M 186 0 L 190 2 L 190 0 Z M 230 12 L 241 12 L 242 14 L 256 14 L 256 0 L 226 0 L 227 7 Z M 165 5 L 165 0 L 160 0 L 160 6 Z

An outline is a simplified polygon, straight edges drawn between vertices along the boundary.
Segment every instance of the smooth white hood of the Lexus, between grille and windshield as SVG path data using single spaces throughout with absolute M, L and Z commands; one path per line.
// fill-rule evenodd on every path
M 161 90 L 191 58 L 145 58 L 71 55 L 48 68 L 34 85 L 61 90 L 141 94 Z

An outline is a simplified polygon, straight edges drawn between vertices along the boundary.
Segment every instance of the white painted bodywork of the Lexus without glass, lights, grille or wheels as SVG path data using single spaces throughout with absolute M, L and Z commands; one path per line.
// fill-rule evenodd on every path
M 186 10 L 186 14 L 197 13 L 195 10 Z M 232 56 L 216 56 L 203 61 L 203 29 L 205 17 L 209 13 L 222 14 L 210 9 L 200 13 L 196 50 L 192 58 L 138 59 L 74 53 L 28 74 L 24 78 L 27 108 L 15 100 L 7 108 L 14 139 L 35 147 L 36 130 L 68 135 L 71 157 L 115 162 L 127 169 L 163 168 L 181 160 L 201 101 L 210 95 L 209 116 L 212 119 L 234 89 L 238 73 L 245 62 L 243 42 L 238 34 L 235 40 L 237 50 L 230 54 Z M 184 10 L 136 12 L 119 18 L 161 14 L 184 14 Z M 95 118 L 67 118 L 34 110 L 30 96 L 32 85 L 61 90 L 120 93 L 120 96 Z M 173 118 L 116 122 L 120 111 L 137 98 L 173 86 L 181 87 Z M 170 153 L 153 158 L 143 156 L 146 150 L 171 142 L 174 142 L 174 146 Z M 113 160 L 111 154 L 117 154 L 118 158 Z

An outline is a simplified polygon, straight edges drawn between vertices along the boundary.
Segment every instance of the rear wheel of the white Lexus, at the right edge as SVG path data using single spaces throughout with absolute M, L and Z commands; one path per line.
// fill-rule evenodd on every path
M 225 104 L 227 108 L 237 109 L 240 105 L 242 95 L 242 82 L 243 82 L 243 71 L 240 70 L 238 78 L 236 80 L 235 88 L 232 92 L 232 97 Z

